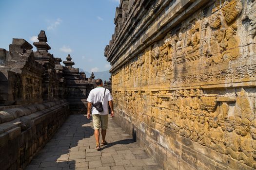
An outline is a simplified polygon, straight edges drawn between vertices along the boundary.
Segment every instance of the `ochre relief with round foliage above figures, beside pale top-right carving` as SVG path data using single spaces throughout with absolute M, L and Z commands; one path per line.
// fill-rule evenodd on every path
M 229 62 L 238 57 L 239 38 L 236 36 L 237 22 L 242 11 L 240 0 L 217 0 L 209 18 L 213 33 L 210 38 L 209 64 Z

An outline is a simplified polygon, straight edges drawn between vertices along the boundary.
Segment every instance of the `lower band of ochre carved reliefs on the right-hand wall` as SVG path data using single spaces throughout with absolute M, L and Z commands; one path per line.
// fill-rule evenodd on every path
M 256 98 L 247 93 L 243 88 L 237 97 L 209 96 L 202 89 L 115 91 L 113 97 L 118 109 L 142 122 L 150 116 L 164 122 L 168 131 L 256 168 Z M 150 109 L 145 109 L 146 98 L 151 99 Z

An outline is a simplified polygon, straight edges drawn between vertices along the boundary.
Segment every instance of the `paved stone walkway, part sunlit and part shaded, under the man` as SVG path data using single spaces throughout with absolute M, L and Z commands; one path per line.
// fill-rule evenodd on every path
M 162 170 L 111 118 L 106 140 L 96 151 L 92 120 L 70 115 L 25 170 Z

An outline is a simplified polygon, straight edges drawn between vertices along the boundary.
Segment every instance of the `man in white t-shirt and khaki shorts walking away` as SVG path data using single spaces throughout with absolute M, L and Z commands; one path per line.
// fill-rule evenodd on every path
M 97 87 L 90 91 L 90 94 L 87 98 L 88 108 L 87 108 L 87 119 L 90 119 L 91 116 L 91 107 L 93 115 L 93 126 L 94 126 L 94 136 L 96 139 L 96 150 L 100 150 L 100 145 L 108 144 L 105 140 L 107 128 L 108 128 L 108 113 L 109 106 L 111 109 L 111 117 L 114 116 L 113 109 L 113 98 L 108 89 L 103 88 L 103 82 L 101 79 L 96 80 Z M 103 111 L 98 111 L 97 106 L 94 104 L 97 102 L 102 102 Z M 99 109 L 100 110 L 100 109 Z M 101 128 L 102 142 L 99 145 L 99 127 Z

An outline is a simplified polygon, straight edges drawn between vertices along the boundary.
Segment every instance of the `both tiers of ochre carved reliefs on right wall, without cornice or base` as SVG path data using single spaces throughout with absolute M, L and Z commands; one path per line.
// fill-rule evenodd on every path
M 255 65 L 229 66 L 255 55 L 255 3 L 217 0 L 208 12 L 195 13 L 178 31 L 135 56 L 112 76 L 117 109 L 142 122 L 150 117 L 160 124 L 160 132 L 176 133 L 256 168 L 256 91 L 236 87 L 230 96 L 218 93 L 218 86 L 214 94 L 189 87 L 256 77 Z M 240 27 L 247 45 L 242 44 Z M 218 66 L 222 68 L 193 72 Z M 161 85 L 186 89 L 162 90 Z

